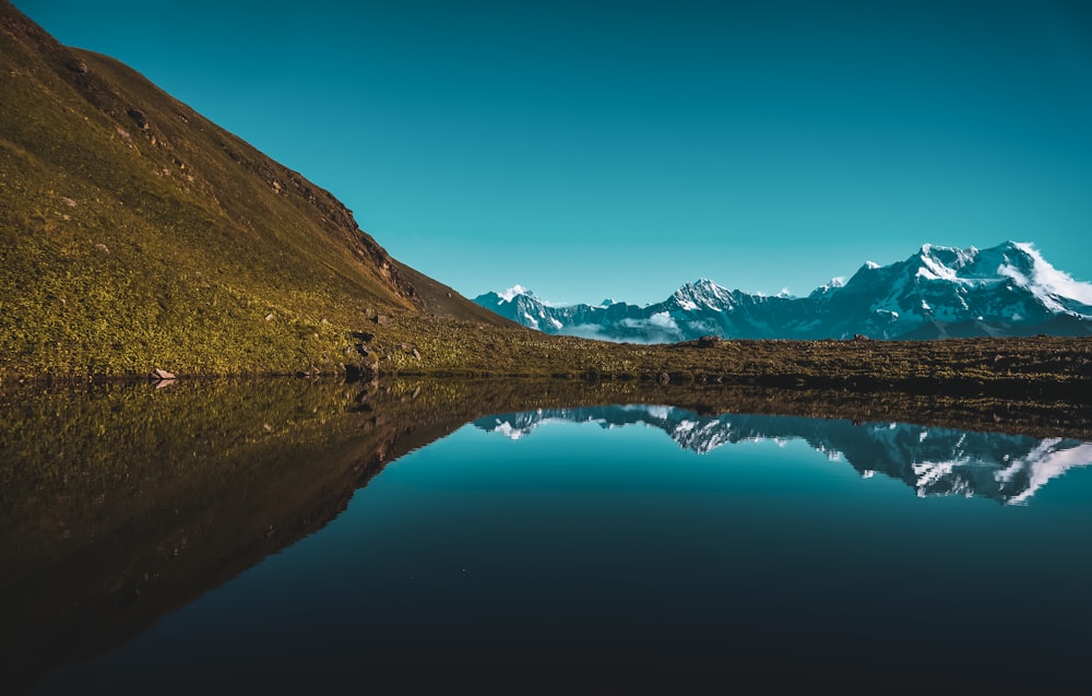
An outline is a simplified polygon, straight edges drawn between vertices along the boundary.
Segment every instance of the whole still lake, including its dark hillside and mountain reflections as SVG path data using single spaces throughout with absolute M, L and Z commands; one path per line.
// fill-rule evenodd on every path
M 10 399 L 11 689 L 1080 691 L 1087 428 L 494 389 Z

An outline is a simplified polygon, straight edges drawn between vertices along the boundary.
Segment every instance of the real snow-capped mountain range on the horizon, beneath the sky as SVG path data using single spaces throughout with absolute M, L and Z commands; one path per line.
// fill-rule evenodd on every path
M 1030 244 L 924 245 L 905 261 L 866 263 L 806 297 L 752 295 L 701 279 L 644 307 L 554 307 L 519 285 L 475 298 L 546 333 L 667 343 L 734 339 L 876 339 L 1092 334 L 1092 283 L 1055 269 Z

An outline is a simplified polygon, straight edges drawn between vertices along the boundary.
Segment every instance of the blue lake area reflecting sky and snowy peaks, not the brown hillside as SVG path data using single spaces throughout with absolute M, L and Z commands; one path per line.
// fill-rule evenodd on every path
M 1078 691 L 1090 464 L 893 423 L 488 416 L 34 693 Z

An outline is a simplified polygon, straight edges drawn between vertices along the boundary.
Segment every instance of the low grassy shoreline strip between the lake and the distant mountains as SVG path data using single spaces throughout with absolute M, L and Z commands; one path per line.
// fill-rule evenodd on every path
M 1089 401 L 1092 339 L 1011 338 L 943 341 L 688 341 L 637 345 L 547 335 L 521 327 L 486 326 L 414 311 L 377 320 L 360 316 L 352 330 L 317 329 L 334 357 L 296 369 L 189 371 L 180 377 L 233 374 L 506 377 L 636 380 L 855 392 L 995 396 L 1041 394 Z M 328 355 L 330 353 L 328 352 Z M 142 378 L 147 371 L 106 369 L 86 375 L 11 375 L 22 379 Z M 0 373 L 0 378 L 2 378 Z

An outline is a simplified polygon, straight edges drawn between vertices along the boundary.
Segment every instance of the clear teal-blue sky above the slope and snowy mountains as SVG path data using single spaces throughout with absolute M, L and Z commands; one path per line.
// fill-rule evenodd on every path
M 1092 3 L 15 0 L 467 296 L 806 294 L 925 241 L 1092 280 Z

